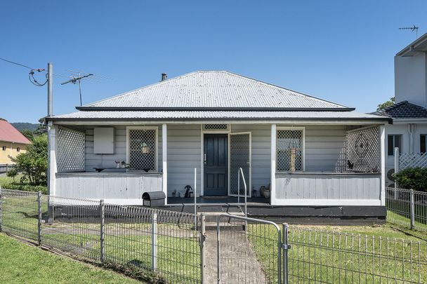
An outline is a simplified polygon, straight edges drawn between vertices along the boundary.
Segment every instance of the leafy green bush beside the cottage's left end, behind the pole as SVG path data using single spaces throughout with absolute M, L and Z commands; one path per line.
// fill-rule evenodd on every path
M 16 158 L 10 157 L 16 164 L 16 170 L 22 173 L 30 184 L 46 184 L 48 171 L 48 137 L 46 134 L 36 136 L 25 153 Z

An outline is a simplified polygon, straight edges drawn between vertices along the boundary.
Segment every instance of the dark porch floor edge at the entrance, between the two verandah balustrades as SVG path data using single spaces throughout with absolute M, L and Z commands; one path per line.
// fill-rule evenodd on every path
M 263 197 L 254 197 L 254 198 L 247 198 L 248 203 L 262 203 L 262 204 L 269 204 L 270 198 L 263 198 Z M 195 198 L 180 198 L 180 197 L 168 197 L 168 205 L 171 204 L 194 204 Z M 213 204 L 213 203 L 238 203 L 237 197 L 233 196 L 209 196 L 209 197 L 197 197 L 196 198 L 197 204 Z M 244 197 L 240 197 L 240 202 L 244 203 Z

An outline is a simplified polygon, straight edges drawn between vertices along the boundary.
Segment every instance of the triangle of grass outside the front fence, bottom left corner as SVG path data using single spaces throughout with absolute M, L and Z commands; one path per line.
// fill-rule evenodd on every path
M 0 234 L 0 283 L 140 283 Z

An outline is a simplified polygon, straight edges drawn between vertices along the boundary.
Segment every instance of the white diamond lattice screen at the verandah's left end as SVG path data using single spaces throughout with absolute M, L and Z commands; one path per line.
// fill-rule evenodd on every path
M 56 163 L 58 172 L 84 171 L 85 134 L 83 131 L 58 127 Z

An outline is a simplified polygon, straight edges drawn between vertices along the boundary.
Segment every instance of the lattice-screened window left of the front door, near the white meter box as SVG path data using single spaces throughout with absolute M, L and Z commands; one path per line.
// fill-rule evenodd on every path
M 128 128 L 128 162 L 133 170 L 157 171 L 157 128 Z

